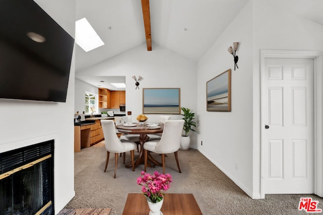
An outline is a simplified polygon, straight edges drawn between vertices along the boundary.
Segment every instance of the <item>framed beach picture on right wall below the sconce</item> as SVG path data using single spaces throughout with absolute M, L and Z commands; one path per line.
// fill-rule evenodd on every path
M 231 69 L 206 82 L 206 111 L 231 111 Z

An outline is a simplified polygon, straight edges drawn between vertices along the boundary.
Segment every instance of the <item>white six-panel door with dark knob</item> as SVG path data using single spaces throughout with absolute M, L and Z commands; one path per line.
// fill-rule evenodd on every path
M 266 58 L 264 191 L 313 193 L 313 59 Z

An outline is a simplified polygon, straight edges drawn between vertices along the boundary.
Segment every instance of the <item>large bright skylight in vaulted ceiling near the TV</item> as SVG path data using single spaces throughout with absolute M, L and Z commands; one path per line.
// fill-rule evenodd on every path
M 75 42 L 86 52 L 104 45 L 86 18 L 75 22 Z

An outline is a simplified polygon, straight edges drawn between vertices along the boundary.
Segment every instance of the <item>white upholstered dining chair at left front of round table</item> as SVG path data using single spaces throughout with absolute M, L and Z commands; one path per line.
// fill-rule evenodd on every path
M 105 169 L 106 171 L 107 164 L 109 163 L 110 153 L 115 153 L 115 178 L 117 176 L 117 166 L 118 166 L 118 155 L 119 153 L 126 153 L 130 151 L 131 154 L 131 163 L 132 171 L 135 171 L 134 167 L 134 150 L 137 148 L 135 142 L 119 139 L 116 133 L 115 122 L 113 120 L 101 120 L 104 140 L 105 140 L 105 149 L 106 149 L 106 162 Z

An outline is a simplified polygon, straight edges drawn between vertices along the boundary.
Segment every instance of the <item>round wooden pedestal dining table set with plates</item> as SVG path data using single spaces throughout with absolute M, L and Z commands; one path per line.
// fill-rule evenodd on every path
M 137 168 L 139 164 L 144 164 L 144 151 L 143 145 L 146 141 L 149 140 L 148 134 L 154 133 L 163 133 L 164 124 L 156 124 L 151 125 L 148 123 L 125 123 L 123 125 L 117 125 L 117 130 L 121 133 L 125 134 L 139 134 L 139 142 L 140 142 L 140 151 L 139 157 L 136 159 L 134 166 Z M 154 167 L 154 165 L 162 166 L 161 163 L 157 162 L 152 158 L 150 152 L 147 153 L 147 166 Z M 132 164 L 127 164 L 127 168 L 132 167 Z

